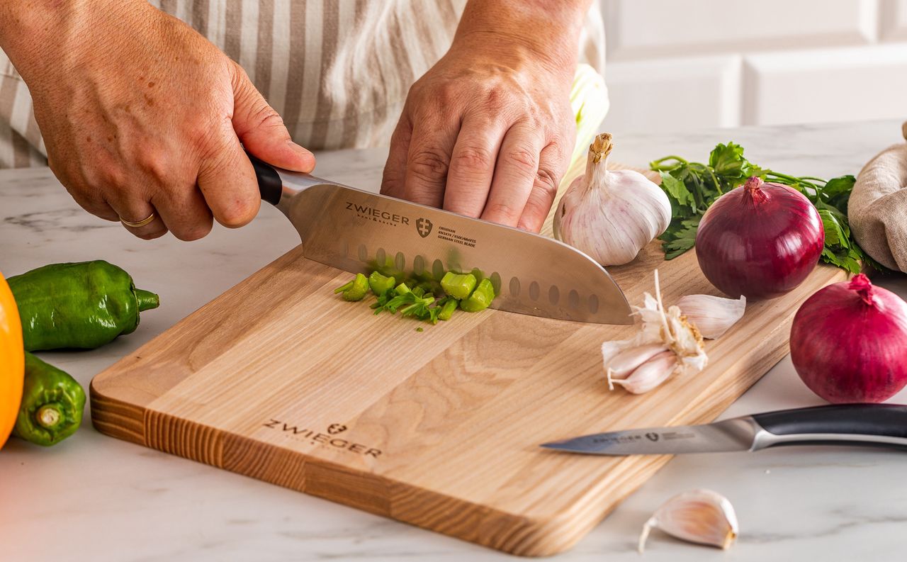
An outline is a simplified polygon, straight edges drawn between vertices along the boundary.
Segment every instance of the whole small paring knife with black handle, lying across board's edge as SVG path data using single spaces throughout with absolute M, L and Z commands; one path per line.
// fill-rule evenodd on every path
M 541 446 L 620 456 L 759 451 L 780 445 L 867 445 L 907 450 L 907 406 L 816 406 L 756 413 L 706 425 L 594 433 Z

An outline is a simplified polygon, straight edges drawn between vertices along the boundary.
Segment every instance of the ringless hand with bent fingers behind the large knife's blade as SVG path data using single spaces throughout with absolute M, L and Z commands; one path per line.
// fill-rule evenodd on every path
M 526 44 L 459 37 L 410 88 L 381 192 L 538 232 L 576 136 L 574 70 Z

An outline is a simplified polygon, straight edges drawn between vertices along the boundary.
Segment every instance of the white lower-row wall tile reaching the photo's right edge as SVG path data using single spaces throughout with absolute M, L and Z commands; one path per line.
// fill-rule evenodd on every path
M 744 124 L 907 115 L 907 44 L 747 55 Z

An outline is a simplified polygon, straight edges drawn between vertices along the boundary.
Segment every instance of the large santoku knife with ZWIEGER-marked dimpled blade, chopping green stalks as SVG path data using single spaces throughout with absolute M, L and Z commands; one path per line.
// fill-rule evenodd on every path
M 261 199 L 289 218 L 304 255 L 351 273 L 489 277 L 493 308 L 632 324 L 627 298 L 595 260 L 549 237 L 275 168 L 249 155 Z

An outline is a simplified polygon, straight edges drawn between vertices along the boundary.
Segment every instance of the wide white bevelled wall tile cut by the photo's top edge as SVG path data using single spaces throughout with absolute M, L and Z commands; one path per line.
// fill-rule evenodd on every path
M 605 0 L 614 60 L 865 44 L 876 0 Z

